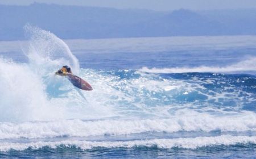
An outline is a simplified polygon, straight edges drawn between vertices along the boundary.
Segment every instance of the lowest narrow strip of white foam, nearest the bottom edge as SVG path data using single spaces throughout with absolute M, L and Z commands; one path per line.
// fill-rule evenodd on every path
M 81 149 L 92 149 L 96 147 L 103 148 L 133 148 L 133 147 L 152 147 L 158 148 L 186 148 L 195 149 L 199 147 L 208 147 L 215 145 L 235 145 L 235 144 L 256 144 L 256 136 L 231 136 L 221 135 L 216 137 L 195 137 L 195 138 L 177 138 L 177 139 L 152 139 L 152 140 L 134 140 L 134 141 L 80 141 L 80 140 L 65 140 L 65 141 L 38 141 L 31 143 L 10 143 L 2 142 L 0 151 L 8 150 L 24 150 L 27 148 L 39 149 L 43 147 L 57 148 L 65 146 L 67 148 L 75 146 Z

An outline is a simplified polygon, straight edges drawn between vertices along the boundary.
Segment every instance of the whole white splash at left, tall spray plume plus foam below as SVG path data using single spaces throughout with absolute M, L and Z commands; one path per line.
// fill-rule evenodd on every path
M 77 58 L 51 32 L 30 25 L 24 28 L 29 37 L 23 49 L 28 63 L 0 59 L 0 122 L 85 118 L 93 108 L 86 108 L 88 103 L 67 79 L 55 76 L 63 65 L 78 73 Z

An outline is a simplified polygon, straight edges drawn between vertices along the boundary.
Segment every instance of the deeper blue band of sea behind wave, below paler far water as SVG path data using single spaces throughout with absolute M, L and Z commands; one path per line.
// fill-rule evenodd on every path
M 176 68 L 196 66 L 226 66 L 236 64 L 255 56 L 254 48 L 221 50 L 188 50 L 168 52 L 106 52 L 90 53 L 73 51 L 79 59 L 81 68 L 119 70 L 137 70 L 147 68 Z M 27 62 L 22 52 L 3 52 L 3 56 L 19 62 Z M 212 57 L 212 58 L 209 58 Z

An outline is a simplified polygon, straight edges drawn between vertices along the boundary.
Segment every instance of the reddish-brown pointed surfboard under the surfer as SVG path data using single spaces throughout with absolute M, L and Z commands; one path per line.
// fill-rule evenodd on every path
M 78 87 L 79 89 L 82 89 L 82 90 L 93 90 L 92 89 L 92 86 L 90 86 L 90 84 L 88 82 L 86 82 L 85 80 L 82 80 L 82 78 L 74 75 L 74 74 L 71 74 L 71 73 L 68 73 L 67 74 L 68 76 L 68 80 L 76 87 Z

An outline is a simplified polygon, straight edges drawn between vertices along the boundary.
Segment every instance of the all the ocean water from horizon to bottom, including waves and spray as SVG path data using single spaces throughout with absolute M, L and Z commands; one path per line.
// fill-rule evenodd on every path
M 256 36 L 0 41 L 0 158 L 255 158 Z M 70 65 L 93 91 L 54 73 Z

